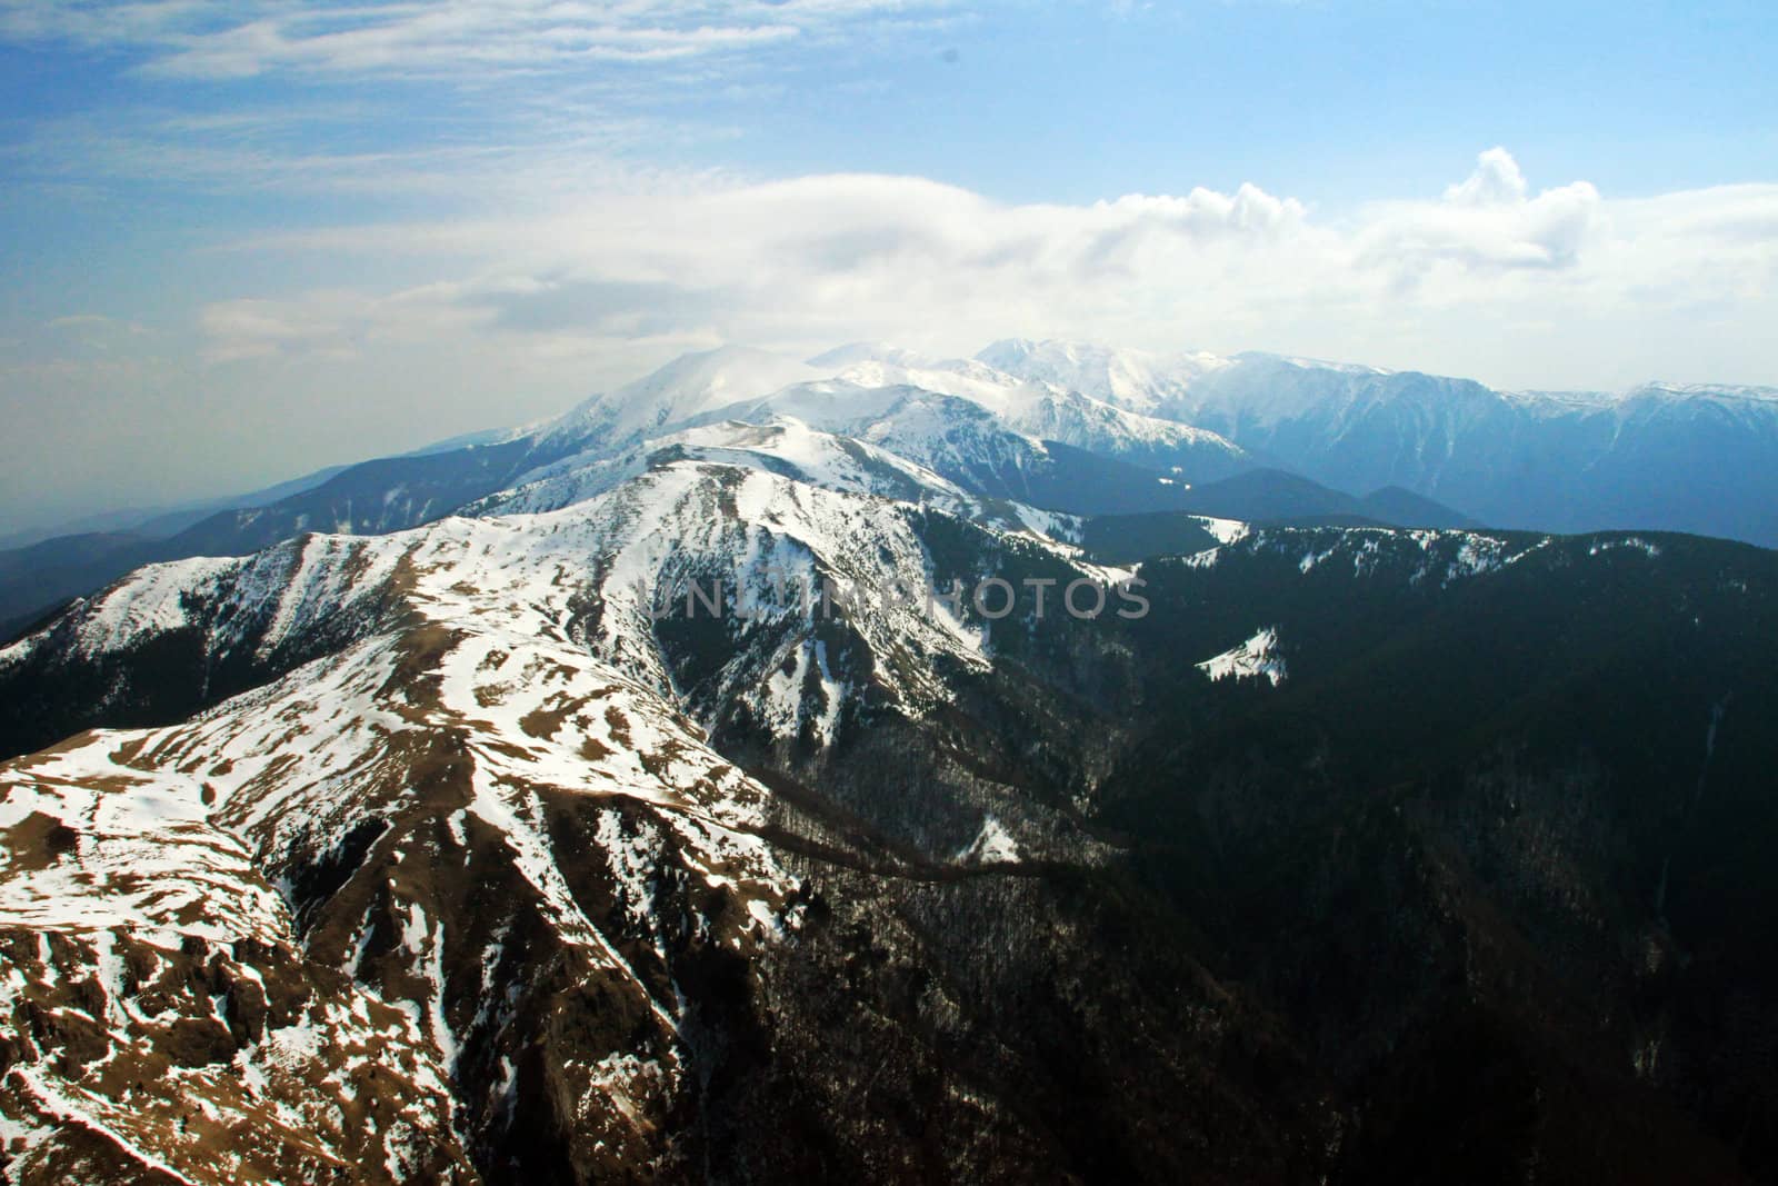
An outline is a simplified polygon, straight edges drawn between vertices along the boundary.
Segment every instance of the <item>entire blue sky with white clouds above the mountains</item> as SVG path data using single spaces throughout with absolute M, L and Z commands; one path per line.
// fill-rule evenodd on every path
M 1778 384 L 1778 7 L 0 0 L 0 532 L 725 340 Z

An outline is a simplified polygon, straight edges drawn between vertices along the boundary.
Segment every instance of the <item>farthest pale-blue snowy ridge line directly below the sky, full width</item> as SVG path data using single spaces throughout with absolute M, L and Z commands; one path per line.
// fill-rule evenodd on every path
M 0 555 L 0 624 L 16 635 L 52 605 L 146 562 L 240 555 L 313 528 L 427 523 L 573 453 L 628 448 L 717 405 L 740 407 L 786 382 L 821 382 L 823 370 L 861 393 L 926 384 L 1033 439 L 1188 482 L 1269 466 L 1346 493 L 1401 487 L 1501 526 L 1641 526 L 1778 546 L 1778 491 L 1766 489 L 1778 473 L 1778 413 L 1766 414 L 1778 405 L 1771 388 L 1652 382 L 1622 395 L 1502 393 L 1285 356 L 1165 356 L 1029 340 L 953 361 L 855 343 L 813 365 L 727 347 L 685 356 L 528 429 L 322 471 L 267 507 L 169 523 L 180 530 L 165 539 L 59 539 Z M 1125 500 L 1099 510 L 1141 507 Z

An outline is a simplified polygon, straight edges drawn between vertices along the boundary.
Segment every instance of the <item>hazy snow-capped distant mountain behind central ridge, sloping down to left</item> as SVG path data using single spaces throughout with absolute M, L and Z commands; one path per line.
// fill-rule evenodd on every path
M 903 363 L 919 363 L 919 368 L 907 370 Z M 893 349 L 853 347 L 836 352 L 825 366 L 836 370 L 843 389 L 861 400 L 859 407 L 873 400 L 882 404 L 866 391 L 957 389 L 1003 429 L 1093 453 L 1070 453 L 1061 466 L 1067 475 L 1037 480 L 1035 493 L 1044 505 L 1063 510 L 1173 505 L 1157 482 L 1133 466 L 1207 480 L 1248 464 L 1239 448 L 1211 432 L 1133 416 L 1077 393 L 1035 388 L 980 365 L 921 363 Z M 142 564 L 247 555 L 309 530 L 382 533 L 420 526 L 526 485 L 551 466 L 606 461 L 674 429 L 709 421 L 720 409 L 741 409 L 821 377 L 821 366 L 763 350 L 724 347 L 688 354 L 539 425 L 347 466 L 281 498 L 212 514 L 164 539 L 75 537 L 48 541 L 32 551 L 0 553 L 0 637 L 14 637 L 57 603 L 92 592 Z M 855 418 L 850 411 L 839 414 L 846 423 Z M 827 414 L 818 423 L 832 420 Z M 1042 446 L 1017 446 L 1015 452 L 1028 448 Z M 1042 468 L 1058 466 L 1045 461 Z M 1015 496 L 1019 491 L 1031 493 L 1021 480 L 1003 477 L 976 493 Z

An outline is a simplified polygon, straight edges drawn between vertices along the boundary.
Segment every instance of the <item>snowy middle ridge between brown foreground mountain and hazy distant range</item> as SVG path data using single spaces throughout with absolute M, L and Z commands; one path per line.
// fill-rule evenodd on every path
M 725 445 L 695 445 L 713 436 Z M 935 576 L 919 532 L 930 516 L 983 541 L 1010 533 L 1015 539 L 1001 546 L 1029 546 L 1076 564 L 1077 549 L 1065 542 L 1070 519 L 985 507 L 885 457 L 795 421 L 693 430 L 649 453 L 637 473 L 596 466 L 594 475 L 569 471 L 565 485 L 544 477 L 512 491 L 510 505 L 489 505 L 487 517 L 452 517 L 395 535 L 311 535 L 238 560 L 146 567 L 0 651 L 0 676 L 16 686 L 20 672 L 41 679 L 91 670 L 92 679 L 110 683 L 107 699 L 76 706 L 94 711 L 107 701 L 153 695 L 137 686 L 133 669 L 117 667 L 137 651 L 158 649 L 156 660 L 165 660 L 178 647 L 181 661 L 210 681 L 231 665 L 265 674 L 306 661 L 309 649 L 292 649 L 300 640 L 315 649 L 356 642 L 425 599 L 427 606 L 448 603 L 453 613 L 562 633 L 656 693 L 686 695 L 709 713 L 706 720 L 747 713 L 775 734 L 797 736 L 820 718 L 829 736 L 837 727 L 839 685 L 868 686 L 873 701 L 923 711 L 939 695 L 941 667 L 980 663 L 981 637 L 948 615 L 944 603 L 933 608 L 919 599 L 884 599 L 871 613 L 818 622 L 805 605 L 809 594 L 830 585 L 877 597 L 928 589 Z M 530 503 L 564 509 L 500 514 Z M 1088 565 L 1076 576 L 1095 573 Z M 428 574 L 443 583 L 434 589 Z M 654 622 L 676 619 L 693 583 L 709 592 L 718 581 L 731 603 L 720 626 L 745 635 L 752 658 L 711 672 L 704 686 L 686 681 L 697 656 L 660 642 Z M 487 605 L 477 608 L 480 599 Z M 811 633 L 816 624 L 825 640 Z M 772 679 L 779 667 L 798 677 Z M 158 677 L 160 667 L 153 672 Z

